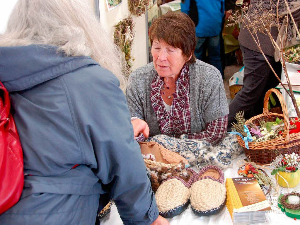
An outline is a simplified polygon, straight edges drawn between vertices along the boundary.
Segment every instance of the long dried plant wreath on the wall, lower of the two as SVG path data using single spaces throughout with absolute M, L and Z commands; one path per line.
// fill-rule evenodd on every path
M 125 61 L 125 68 L 123 68 L 124 73 L 128 77 L 131 73 L 132 63 L 131 60 L 134 61 L 131 55 L 131 49 L 133 45 L 134 39 L 134 25 L 135 23 L 132 20 L 132 17 L 128 15 L 124 19 L 122 19 L 117 25 L 115 25 L 114 31 L 114 43 L 119 46 L 121 51 L 123 52 L 123 58 Z

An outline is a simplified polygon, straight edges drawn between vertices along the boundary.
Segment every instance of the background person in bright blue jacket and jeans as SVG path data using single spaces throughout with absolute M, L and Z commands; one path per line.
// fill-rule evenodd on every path
M 196 26 L 195 56 L 202 60 L 206 43 L 209 64 L 223 76 L 220 54 L 220 32 L 224 16 L 224 0 L 182 0 L 181 11 L 188 14 Z M 206 54 L 206 52 L 204 52 Z

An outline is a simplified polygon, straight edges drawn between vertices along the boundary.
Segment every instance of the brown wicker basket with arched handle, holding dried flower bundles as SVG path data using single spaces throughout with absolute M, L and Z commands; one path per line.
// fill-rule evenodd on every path
M 268 101 L 270 94 L 274 92 L 281 104 L 283 114 L 269 113 L 268 111 Z M 289 116 L 287 113 L 286 104 L 283 100 L 280 92 L 272 88 L 267 91 L 264 99 L 264 108 L 263 113 L 254 116 L 251 119 L 247 120 L 245 124 L 252 122 L 253 124 L 259 126 L 260 120 L 265 120 L 265 122 L 275 121 L 276 117 L 283 119 L 284 121 L 284 131 L 283 135 L 277 137 L 273 140 L 268 140 L 264 142 L 249 142 L 249 149 L 245 148 L 244 140 L 237 135 L 238 143 L 244 148 L 246 156 L 249 155 L 252 162 L 256 164 L 269 164 L 271 163 L 278 155 L 284 155 L 285 153 L 291 154 L 295 152 L 300 154 L 300 133 L 289 134 Z

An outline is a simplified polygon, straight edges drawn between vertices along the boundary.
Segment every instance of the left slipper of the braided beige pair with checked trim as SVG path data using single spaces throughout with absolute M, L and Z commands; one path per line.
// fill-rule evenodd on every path
M 181 179 L 177 176 L 170 177 L 158 187 L 155 199 L 159 214 L 162 217 L 174 217 L 187 208 L 190 199 L 190 187 L 196 172 L 187 168 L 188 176 Z

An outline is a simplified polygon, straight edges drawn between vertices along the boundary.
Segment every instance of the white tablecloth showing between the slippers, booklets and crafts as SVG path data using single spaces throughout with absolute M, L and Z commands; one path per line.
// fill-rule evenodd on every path
M 232 163 L 232 167 L 227 168 L 226 170 L 223 170 L 225 178 L 227 177 L 238 177 L 237 170 L 238 167 L 236 165 L 236 162 L 239 159 L 245 158 L 244 153 L 242 153 L 237 159 L 235 159 Z M 193 168 L 196 172 L 199 172 L 196 168 Z M 268 171 L 266 171 L 268 173 Z M 269 174 L 270 176 L 270 174 Z M 286 191 L 286 188 L 283 189 L 283 192 Z M 281 190 L 280 189 L 280 190 Z M 298 186 L 291 188 L 290 191 L 300 190 L 300 184 Z M 280 209 L 277 206 L 277 196 L 271 195 L 271 210 L 267 212 L 266 214 L 266 220 L 265 223 L 256 223 L 261 225 L 293 225 L 293 224 L 300 224 L 300 220 L 294 220 L 293 218 L 287 217 L 284 212 L 281 212 Z M 173 217 L 173 218 L 167 218 L 167 220 L 170 222 L 170 225 L 199 225 L 199 224 L 205 224 L 205 225 L 211 225 L 211 224 L 233 224 L 230 214 L 226 208 L 226 206 L 223 208 L 220 213 L 216 215 L 211 216 L 205 216 L 205 217 L 199 217 L 195 215 L 190 207 L 190 205 L 187 207 L 185 211 L 183 211 L 181 214 Z M 111 212 L 109 215 L 104 217 L 100 220 L 101 225 L 122 225 L 122 220 L 120 219 L 119 213 L 117 211 L 116 205 L 113 204 L 111 207 Z

